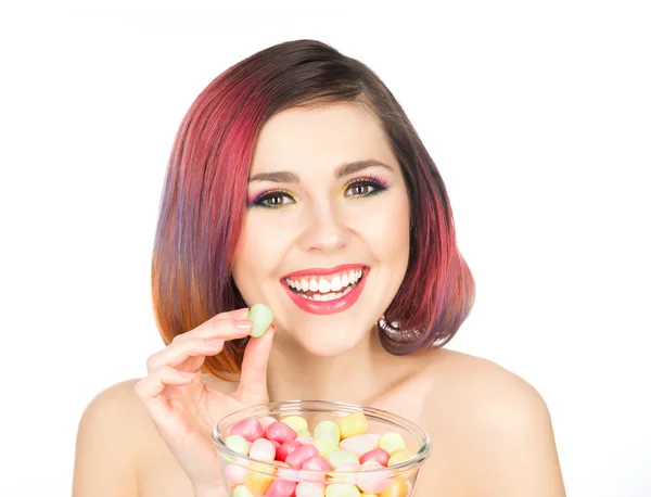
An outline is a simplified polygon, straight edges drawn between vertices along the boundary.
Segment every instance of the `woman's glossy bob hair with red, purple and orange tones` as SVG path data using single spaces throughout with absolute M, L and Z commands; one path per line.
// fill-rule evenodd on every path
M 219 313 L 247 306 L 231 263 L 261 127 L 281 111 L 335 102 L 358 103 L 379 118 L 409 194 L 409 263 L 380 321 L 382 345 L 396 355 L 442 346 L 465 320 L 474 280 L 457 248 L 443 179 L 407 115 L 365 64 L 326 43 L 296 40 L 228 68 L 200 93 L 180 125 L 152 260 L 154 317 L 166 344 Z M 245 343 L 227 342 L 205 369 L 224 379 L 239 373 Z

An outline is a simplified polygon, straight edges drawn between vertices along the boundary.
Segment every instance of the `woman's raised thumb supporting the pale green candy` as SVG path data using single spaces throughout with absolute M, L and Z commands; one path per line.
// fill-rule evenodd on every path
M 255 406 L 268 402 L 267 364 L 275 333 L 276 327 L 271 324 L 263 336 L 251 339 L 246 344 L 240 384 L 234 394 L 244 404 Z

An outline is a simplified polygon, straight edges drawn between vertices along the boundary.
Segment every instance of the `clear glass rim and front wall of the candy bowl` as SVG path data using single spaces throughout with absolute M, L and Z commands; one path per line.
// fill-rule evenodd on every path
M 348 469 L 345 464 L 341 470 L 317 471 L 253 459 L 225 443 L 233 425 L 246 419 L 257 419 L 265 425 L 270 421 L 269 417 L 282 421 L 290 416 L 301 416 L 311 433 L 321 421 L 336 421 L 355 412 L 365 415 L 369 434 L 398 433 L 411 457 L 386 467 L 372 464 Z M 371 407 L 326 400 L 276 402 L 239 410 L 217 423 L 213 430 L 213 444 L 229 497 L 408 497 L 413 495 L 419 470 L 431 453 L 427 434 L 405 418 Z

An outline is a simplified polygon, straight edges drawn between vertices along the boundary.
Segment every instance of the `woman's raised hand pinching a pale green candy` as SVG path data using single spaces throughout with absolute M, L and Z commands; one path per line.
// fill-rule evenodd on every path
M 221 352 L 227 340 L 248 335 L 253 322 L 246 319 L 247 314 L 246 308 L 224 313 L 176 336 L 149 358 L 148 375 L 136 385 L 161 437 L 197 495 L 213 495 L 222 488 L 219 459 L 210 441 L 217 421 L 235 410 L 269 402 L 267 361 L 273 324 L 246 345 L 240 384 L 233 394 L 217 392 L 201 378 L 206 356 Z

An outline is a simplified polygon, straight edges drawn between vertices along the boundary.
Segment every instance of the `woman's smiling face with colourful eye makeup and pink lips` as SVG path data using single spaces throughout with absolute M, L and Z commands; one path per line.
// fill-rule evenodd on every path
M 277 340 L 322 356 L 352 348 L 391 304 L 408 256 L 407 190 L 372 113 L 339 103 L 266 123 L 233 277 L 247 305 L 271 307 Z

